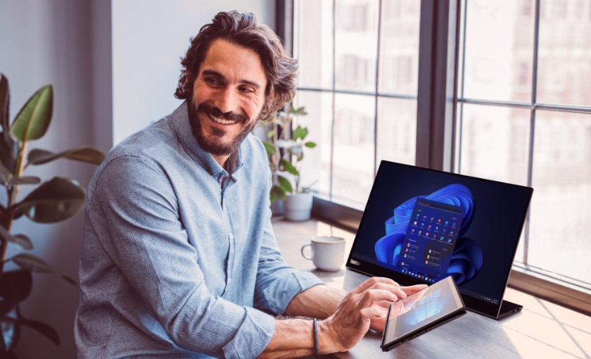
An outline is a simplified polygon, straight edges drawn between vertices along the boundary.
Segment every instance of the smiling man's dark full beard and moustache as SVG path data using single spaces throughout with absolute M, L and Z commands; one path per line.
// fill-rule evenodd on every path
M 219 108 L 209 106 L 208 104 L 201 103 L 196 108 L 195 103 L 190 101 L 189 103 L 189 124 L 191 125 L 191 132 L 193 137 L 197 140 L 199 146 L 205 151 L 211 153 L 214 156 L 229 156 L 231 153 L 238 151 L 238 148 L 246 136 L 253 131 L 258 120 L 249 122 L 249 118 L 241 113 L 222 113 Z M 217 127 L 211 127 L 212 133 L 206 136 L 203 132 L 203 126 L 201 126 L 201 120 L 198 118 L 198 113 L 203 113 L 208 116 L 215 118 L 225 118 L 226 120 L 235 120 L 237 123 L 244 124 L 241 132 L 236 134 L 234 139 L 231 139 L 229 143 L 224 143 L 222 137 L 226 132 Z

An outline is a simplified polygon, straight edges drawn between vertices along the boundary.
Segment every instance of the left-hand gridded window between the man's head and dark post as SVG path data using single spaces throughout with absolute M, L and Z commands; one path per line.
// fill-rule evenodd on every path
M 298 0 L 294 10 L 295 103 L 318 144 L 303 184 L 362 209 L 381 159 L 414 163 L 420 2 Z

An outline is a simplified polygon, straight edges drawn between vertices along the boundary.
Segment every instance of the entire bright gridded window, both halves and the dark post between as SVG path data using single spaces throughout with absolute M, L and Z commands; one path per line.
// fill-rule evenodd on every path
M 591 2 L 294 0 L 294 13 L 295 101 L 319 144 L 303 177 L 323 213 L 359 218 L 381 159 L 534 187 L 521 284 L 588 307 Z

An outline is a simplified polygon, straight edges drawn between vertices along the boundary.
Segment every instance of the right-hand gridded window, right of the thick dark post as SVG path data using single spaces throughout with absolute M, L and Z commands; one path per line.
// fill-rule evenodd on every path
M 455 169 L 534 187 L 516 265 L 589 290 L 591 2 L 463 2 Z

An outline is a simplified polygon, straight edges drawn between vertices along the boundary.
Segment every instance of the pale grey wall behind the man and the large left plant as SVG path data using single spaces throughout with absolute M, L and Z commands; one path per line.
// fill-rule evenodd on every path
M 39 87 L 53 84 L 53 122 L 30 147 L 90 144 L 108 151 L 178 106 L 173 94 L 189 37 L 217 11 L 231 9 L 274 25 L 273 0 L 0 0 L 0 72 L 10 82 L 11 119 Z M 93 172 L 93 165 L 58 160 L 26 173 L 44 180 L 59 174 L 86 186 Z M 23 187 L 20 198 L 28 191 Z M 6 203 L 4 187 L 0 203 Z M 22 218 L 13 233 L 27 234 L 34 254 L 77 278 L 82 224 L 82 213 L 55 225 Z M 18 252 L 10 248 L 8 256 Z M 78 289 L 62 279 L 34 275 L 23 314 L 56 327 L 62 344 L 25 329 L 18 357 L 75 358 L 78 298 Z

